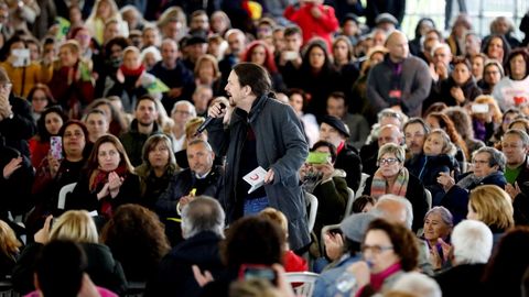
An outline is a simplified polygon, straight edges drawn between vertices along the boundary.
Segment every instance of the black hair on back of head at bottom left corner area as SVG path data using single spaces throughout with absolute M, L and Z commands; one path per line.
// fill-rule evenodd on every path
M 54 240 L 44 245 L 35 265 L 43 295 L 77 296 L 86 265 L 86 255 L 75 242 Z

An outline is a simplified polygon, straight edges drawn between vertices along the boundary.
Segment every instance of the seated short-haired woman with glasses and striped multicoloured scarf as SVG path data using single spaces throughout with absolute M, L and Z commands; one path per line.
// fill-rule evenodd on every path
M 404 167 L 406 152 L 400 145 L 386 143 L 378 150 L 378 169 L 366 180 L 365 195 L 378 198 L 386 194 L 406 197 L 413 206 L 414 231 L 422 228 L 428 210 L 424 186 Z

